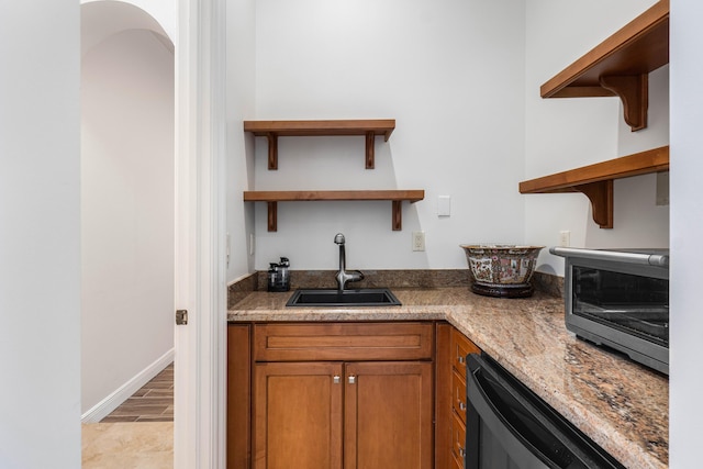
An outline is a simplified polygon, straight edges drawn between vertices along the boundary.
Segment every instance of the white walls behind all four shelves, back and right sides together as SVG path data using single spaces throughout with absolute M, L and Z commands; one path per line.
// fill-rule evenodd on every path
M 524 179 L 668 144 L 668 67 L 650 76 L 649 126 L 636 133 L 616 98 L 539 97 L 544 81 L 654 0 L 543 0 L 526 21 L 522 2 L 289 3 L 257 2 L 252 119 L 394 118 L 397 130 L 377 138 L 375 170 L 364 169 L 361 137 L 326 137 L 280 138 L 279 169 L 269 171 L 266 139 L 256 138 L 250 188 L 426 197 L 403 203 L 402 232 L 390 230 L 390 202 L 282 202 L 277 233 L 256 203 L 257 269 L 282 255 L 293 268 L 334 268 L 337 232 L 360 269 L 465 268 L 460 243 L 550 246 L 561 230 L 573 246 L 668 246 L 669 208 L 655 204 L 654 175 L 615 182 L 614 230 L 593 223 L 582 194 L 517 192 Z M 450 217 L 436 214 L 439 194 L 451 196 Z M 425 253 L 411 250 L 417 230 Z M 562 275 L 562 260 L 545 249 L 539 270 Z

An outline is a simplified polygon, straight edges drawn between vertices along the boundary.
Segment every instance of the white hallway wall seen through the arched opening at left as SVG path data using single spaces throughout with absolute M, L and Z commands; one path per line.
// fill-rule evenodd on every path
M 127 30 L 81 72 L 82 411 L 174 347 L 174 54 Z

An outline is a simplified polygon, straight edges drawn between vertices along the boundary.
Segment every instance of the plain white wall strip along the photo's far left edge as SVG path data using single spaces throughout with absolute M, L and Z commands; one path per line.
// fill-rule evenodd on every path
M 80 467 L 79 9 L 0 3 L 0 467 Z

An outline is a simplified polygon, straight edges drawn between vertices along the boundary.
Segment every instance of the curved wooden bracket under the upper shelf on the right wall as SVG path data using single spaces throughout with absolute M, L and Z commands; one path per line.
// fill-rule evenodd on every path
M 625 122 L 633 132 L 647 126 L 649 107 L 649 75 L 610 75 L 600 77 L 606 90 L 613 91 L 623 102 Z

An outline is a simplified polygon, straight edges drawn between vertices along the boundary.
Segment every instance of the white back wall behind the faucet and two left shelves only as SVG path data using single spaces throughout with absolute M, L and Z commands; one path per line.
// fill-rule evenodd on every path
M 256 138 L 256 190 L 424 189 L 403 203 L 282 202 L 278 232 L 256 203 L 256 268 L 287 255 L 294 269 L 334 269 L 334 235 L 349 268 L 466 268 L 461 243 L 521 243 L 524 206 L 524 2 L 388 0 L 256 2 L 256 112 L 248 119 L 395 119 L 377 138 L 280 138 L 266 169 Z M 451 197 L 438 217 L 437 197 Z M 241 194 L 237 194 L 241 200 Z M 237 200 L 235 199 L 235 200 Z M 426 233 L 426 252 L 411 233 Z

